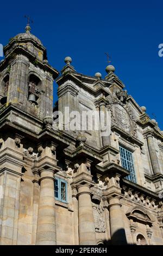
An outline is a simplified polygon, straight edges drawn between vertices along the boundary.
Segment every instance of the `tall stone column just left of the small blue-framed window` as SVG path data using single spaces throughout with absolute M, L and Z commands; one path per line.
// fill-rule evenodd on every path
M 54 169 L 40 170 L 36 245 L 56 245 Z

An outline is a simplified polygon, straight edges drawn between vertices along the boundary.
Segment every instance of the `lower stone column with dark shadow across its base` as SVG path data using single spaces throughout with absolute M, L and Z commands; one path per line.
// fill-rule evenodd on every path
M 113 245 L 126 245 L 120 196 L 111 196 L 109 200 L 110 234 Z

